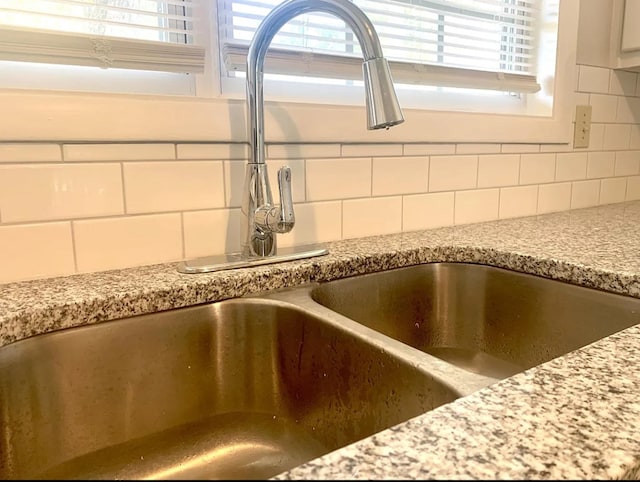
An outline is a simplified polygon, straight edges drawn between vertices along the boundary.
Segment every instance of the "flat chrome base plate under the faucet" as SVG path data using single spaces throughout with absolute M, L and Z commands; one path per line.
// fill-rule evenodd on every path
M 315 256 L 323 256 L 328 253 L 329 251 L 326 248 L 309 245 L 295 246 L 292 248 L 278 248 L 278 251 L 274 256 L 247 257 L 242 253 L 220 254 L 182 261 L 178 265 L 178 271 L 180 273 L 187 274 L 210 273 L 213 271 L 249 268 L 251 266 L 260 266 L 263 264 L 313 258 Z

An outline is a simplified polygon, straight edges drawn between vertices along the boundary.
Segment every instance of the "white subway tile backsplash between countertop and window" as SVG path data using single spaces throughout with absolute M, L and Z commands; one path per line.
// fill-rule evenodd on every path
M 292 170 L 280 246 L 640 199 L 635 72 L 578 66 L 590 146 L 271 144 Z M 0 282 L 237 251 L 244 144 L 0 143 Z M 274 193 L 275 194 L 275 193 Z

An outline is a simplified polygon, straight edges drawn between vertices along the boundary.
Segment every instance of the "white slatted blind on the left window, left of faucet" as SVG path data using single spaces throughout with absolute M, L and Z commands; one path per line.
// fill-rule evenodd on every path
M 199 73 L 192 0 L 0 0 L 0 60 Z

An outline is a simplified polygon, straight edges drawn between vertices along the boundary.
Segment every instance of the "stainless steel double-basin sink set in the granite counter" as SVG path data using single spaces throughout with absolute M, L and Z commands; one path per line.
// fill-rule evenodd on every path
M 269 478 L 637 323 L 433 263 L 38 335 L 0 348 L 0 476 Z

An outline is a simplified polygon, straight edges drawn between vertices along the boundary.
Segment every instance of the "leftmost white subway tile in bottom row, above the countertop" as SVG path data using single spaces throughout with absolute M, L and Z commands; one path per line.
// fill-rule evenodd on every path
M 71 223 L 0 226 L 0 266 L 0 283 L 73 274 Z

